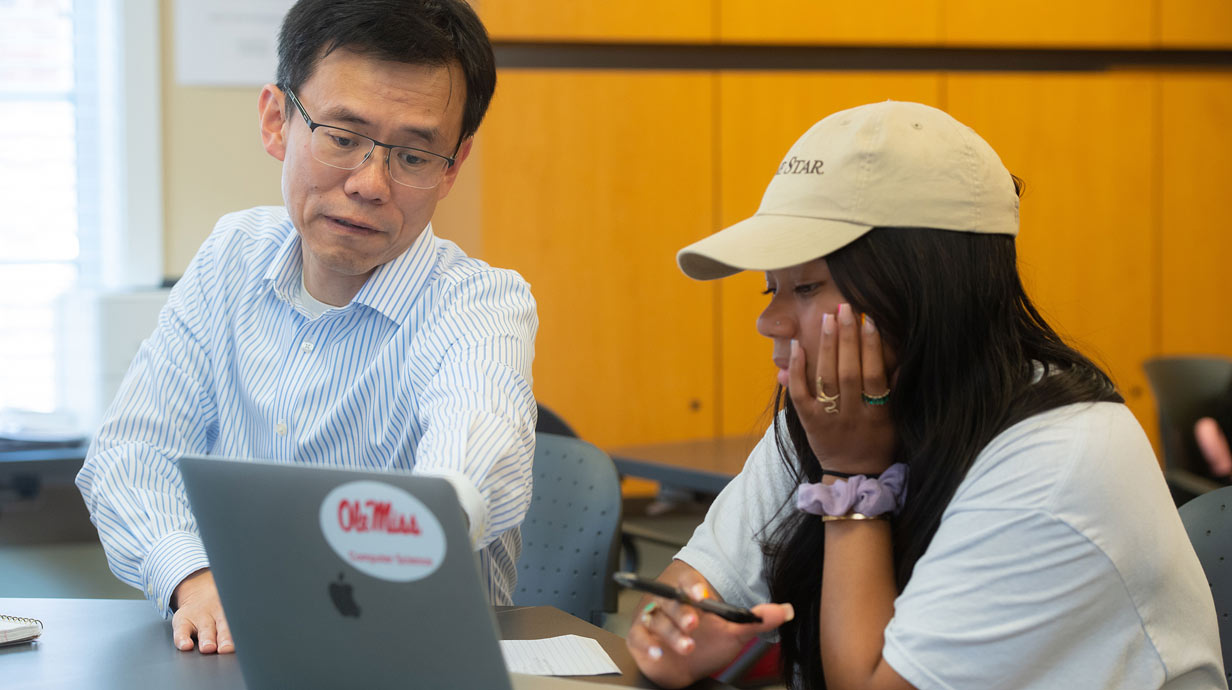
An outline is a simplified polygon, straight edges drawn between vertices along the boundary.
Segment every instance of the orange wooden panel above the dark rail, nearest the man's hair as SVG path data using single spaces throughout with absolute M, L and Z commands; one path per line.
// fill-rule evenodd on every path
M 715 0 L 480 0 L 494 41 L 708 43 Z

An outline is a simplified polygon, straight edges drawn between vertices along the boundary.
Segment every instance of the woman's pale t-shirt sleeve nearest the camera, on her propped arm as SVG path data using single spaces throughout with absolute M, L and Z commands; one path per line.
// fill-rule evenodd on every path
M 1016 431 L 977 461 L 946 509 L 894 601 L 886 662 L 920 690 L 1158 688 L 1164 668 L 1130 589 L 1080 527 L 1084 514 L 1108 525 L 1135 508 L 1112 493 L 1087 492 L 1077 513 L 1056 500 L 1088 481 L 1068 468 L 1124 448 L 1089 447 L 1063 428 Z

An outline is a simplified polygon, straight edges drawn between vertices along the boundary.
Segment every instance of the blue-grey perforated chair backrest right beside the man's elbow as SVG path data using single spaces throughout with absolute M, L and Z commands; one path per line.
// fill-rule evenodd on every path
M 616 466 L 579 439 L 535 435 L 535 489 L 522 522 L 519 606 L 556 606 L 594 625 L 616 610 L 621 494 Z

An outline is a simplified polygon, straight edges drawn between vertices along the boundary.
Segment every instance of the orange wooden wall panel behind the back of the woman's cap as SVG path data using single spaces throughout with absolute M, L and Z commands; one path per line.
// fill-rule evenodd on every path
M 1104 363 L 1148 434 L 1142 362 L 1158 304 L 1156 83 L 1133 74 L 958 74 L 947 110 L 1026 180 L 1019 262 L 1045 318 Z

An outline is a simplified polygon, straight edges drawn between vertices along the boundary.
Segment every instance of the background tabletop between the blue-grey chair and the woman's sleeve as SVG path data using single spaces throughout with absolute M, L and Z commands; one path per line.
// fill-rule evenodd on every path
M 621 474 L 717 494 L 744 467 L 761 436 L 724 436 L 607 450 Z

